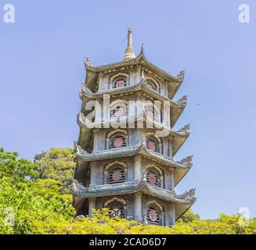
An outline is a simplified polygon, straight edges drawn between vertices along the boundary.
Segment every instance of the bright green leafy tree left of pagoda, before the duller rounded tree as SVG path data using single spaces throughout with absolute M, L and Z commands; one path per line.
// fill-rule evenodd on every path
M 63 195 L 59 180 L 41 179 L 38 171 L 36 163 L 1 148 L 0 234 L 67 233 L 74 218 L 71 195 Z

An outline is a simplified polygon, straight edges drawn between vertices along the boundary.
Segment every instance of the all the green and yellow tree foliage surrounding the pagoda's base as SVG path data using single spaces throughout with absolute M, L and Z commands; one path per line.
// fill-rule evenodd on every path
M 0 234 L 256 234 L 256 218 L 221 214 L 200 220 L 191 210 L 173 227 L 110 218 L 107 209 L 74 220 L 74 166 L 70 148 L 41 152 L 34 162 L 0 148 Z

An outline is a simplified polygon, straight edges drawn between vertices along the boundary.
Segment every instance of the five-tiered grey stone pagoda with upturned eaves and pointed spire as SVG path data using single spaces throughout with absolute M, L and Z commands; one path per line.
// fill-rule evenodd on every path
M 170 226 L 195 202 L 194 189 L 183 195 L 175 186 L 192 167 L 192 156 L 174 160 L 189 137 L 189 126 L 173 130 L 186 96 L 172 101 L 184 72 L 172 76 L 128 47 L 124 59 L 93 66 L 86 77 L 75 144 L 74 208 L 77 216 L 109 208 L 110 216 L 132 217 Z

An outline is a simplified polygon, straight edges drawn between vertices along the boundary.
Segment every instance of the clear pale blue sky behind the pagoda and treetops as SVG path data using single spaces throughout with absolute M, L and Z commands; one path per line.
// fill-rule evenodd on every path
M 2 19 L 6 3 L 14 24 Z M 251 23 L 239 23 L 241 3 Z M 175 159 L 193 154 L 194 166 L 176 191 L 197 187 L 203 219 L 240 207 L 256 216 L 255 16 L 253 0 L 0 0 L 0 145 L 28 159 L 73 147 L 83 59 L 121 61 L 132 27 L 137 55 L 144 43 L 154 64 L 186 70 L 175 100 L 188 95 L 188 105 L 175 128 L 192 131 Z

